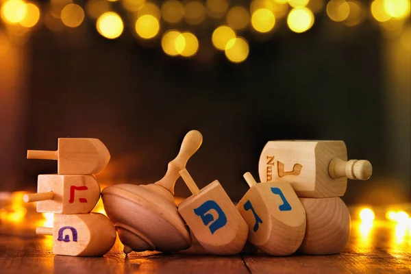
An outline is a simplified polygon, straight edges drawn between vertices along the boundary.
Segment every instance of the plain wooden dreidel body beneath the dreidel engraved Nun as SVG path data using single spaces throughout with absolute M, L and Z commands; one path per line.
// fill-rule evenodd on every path
M 338 197 L 300 198 L 306 210 L 307 228 L 299 252 L 325 255 L 340 253 L 349 240 L 351 219 L 343 200 Z

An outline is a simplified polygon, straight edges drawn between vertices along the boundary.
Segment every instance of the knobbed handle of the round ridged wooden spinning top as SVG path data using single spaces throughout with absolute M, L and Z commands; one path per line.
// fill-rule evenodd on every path
M 191 130 L 184 136 L 182 147 L 179 150 L 177 157 L 169 162 L 166 175 L 155 184 L 163 186 L 174 194 L 174 185 L 180 177 L 179 171 L 186 169 L 188 159 L 199 149 L 203 142 L 203 136 L 197 130 Z

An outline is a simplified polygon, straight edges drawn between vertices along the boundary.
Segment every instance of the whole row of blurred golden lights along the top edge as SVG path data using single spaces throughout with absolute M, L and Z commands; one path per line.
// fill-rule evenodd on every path
M 41 25 L 52 32 L 77 28 L 90 20 L 97 32 L 107 39 L 119 38 L 129 27 L 136 40 L 155 40 L 166 55 L 190 58 L 196 55 L 204 29 L 215 49 L 223 51 L 231 62 L 239 63 L 249 55 L 245 37 L 270 37 L 286 25 L 291 32 L 307 32 L 324 12 L 327 20 L 345 27 L 371 20 L 381 27 L 384 36 L 404 34 L 411 45 L 410 0 L 253 0 L 234 5 L 228 0 L 50 0 L 34 3 L 23 0 L 0 0 L 0 56 L 10 47 L 10 36 L 25 34 Z M 284 23 L 284 24 L 283 24 Z M 2 30 L 2 29 L 5 29 Z M 11 29 L 11 31 L 10 31 Z M 188 29 L 188 30 L 186 30 Z

